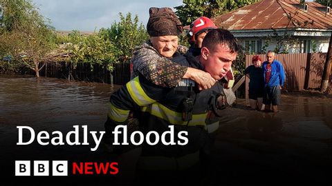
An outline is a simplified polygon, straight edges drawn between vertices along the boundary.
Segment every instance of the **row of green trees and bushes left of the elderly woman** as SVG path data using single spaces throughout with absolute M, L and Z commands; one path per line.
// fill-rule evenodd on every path
M 0 9 L 0 59 L 11 56 L 1 69 L 23 64 L 37 75 L 39 62 L 53 60 L 54 53 L 66 53 L 74 63 L 107 64 L 113 70 L 112 63 L 128 62 L 135 46 L 148 39 L 138 16 L 132 20 L 130 13 L 126 17 L 120 13 L 119 23 L 98 33 L 82 35 L 73 30 L 68 36 L 56 36 L 50 21 L 30 0 L 0 0 Z

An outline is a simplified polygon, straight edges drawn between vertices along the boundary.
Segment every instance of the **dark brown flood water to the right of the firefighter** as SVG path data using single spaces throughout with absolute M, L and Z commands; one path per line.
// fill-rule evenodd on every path
M 329 183 L 332 99 L 282 95 L 279 110 L 273 114 L 236 105 L 225 111 L 214 145 L 215 169 L 225 178 L 222 183 Z M 241 180 L 234 181 L 238 177 Z

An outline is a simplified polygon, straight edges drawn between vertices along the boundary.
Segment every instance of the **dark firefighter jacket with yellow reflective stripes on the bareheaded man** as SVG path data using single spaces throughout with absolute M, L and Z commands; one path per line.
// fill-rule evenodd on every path
M 202 68 L 199 61 L 193 56 L 186 58 L 176 53 L 172 61 L 192 68 Z M 174 166 L 176 168 L 190 166 L 194 163 L 193 159 L 199 158 L 199 150 L 203 149 L 207 143 L 209 133 L 219 127 L 219 118 L 210 119 L 208 113 L 212 103 L 216 100 L 216 95 L 220 94 L 222 89 L 222 85 L 216 83 L 209 90 L 199 91 L 194 81 L 190 79 L 181 80 L 174 88 L 160 87 L 147 81 L 144 76 L 138 75 L 111 95 L 108 119 L 105 123 L 106 136 L 109 136 L 116 125 L 125 125 L 129 111 L 135 111 L 139 113 L 137 117 L 140 131 L 145 135 L 151 130 L 162 134 L 169 130 L 169 125 L 174 125 L 175 141 L 180 140 L 178 132 L 188 132 L 187 145 L 164 145 L 161 142 L 157 145 L 143 143 L 142 156 L 145 158 L 163 157 L 157 158 L 157 164 L 163 162 L 171 167 L 170 169 Z M 188 100 L 189 108 L 186 103 Z M 192 105 L 190 105 L 190 101 L 192 101 Z M 186 114 L 192 114 L 191 119 L 186 119 Z M 151 166 L 156 166 L 156 162 L 152 160 L 156 160 L 156 158 L 145 161 L 144 166 L 148 167 L 146 162 L 151 163 Z M 172 160 L 177 162 L 172 163 Z M 185 163 L 181 164 L 178 160 L 185 160 L 183 161 Z

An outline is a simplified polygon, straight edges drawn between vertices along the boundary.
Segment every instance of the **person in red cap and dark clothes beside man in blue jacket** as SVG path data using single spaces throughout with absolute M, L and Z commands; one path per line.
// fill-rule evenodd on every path
M 264 76 L 261 68 L 261 58 L 252 57 L 252 65 L 249 65 L 244 74 L 250 79 L 249 81 L 249 103 L 253 110 L 261 110 L 263 105 Z

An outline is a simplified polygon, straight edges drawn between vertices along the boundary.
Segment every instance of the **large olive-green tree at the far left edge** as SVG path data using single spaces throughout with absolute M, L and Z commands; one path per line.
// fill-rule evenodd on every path
M 0 0 L 0 54 L 12 56 L 11 63 L 25 65 L 39 77 L 39 63 L 50 59 L 55 30 L 29 0 Z M 1 56 L 1 58 L 2 58 Z

